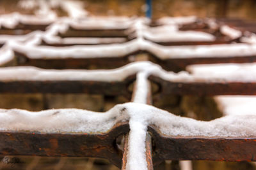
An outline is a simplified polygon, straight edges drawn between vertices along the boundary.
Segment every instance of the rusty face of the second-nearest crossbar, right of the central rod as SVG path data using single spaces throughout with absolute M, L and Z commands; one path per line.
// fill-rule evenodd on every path
M 172 82 L 150 76 L 150 80 L 160 86 L 163 94 L 216 96 L 216 95 L 256 95 L 256 83 L 250 82 Z

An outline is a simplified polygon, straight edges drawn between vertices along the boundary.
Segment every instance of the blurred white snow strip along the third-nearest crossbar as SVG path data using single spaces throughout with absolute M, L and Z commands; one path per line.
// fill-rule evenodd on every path
M 256 55 L 255 44 L 161 46 L 145 39 L 111 45 L 76 45 L 66 47 L 31 46 L 13 43 L 13 50 L 24 53 L 31 59 L 65 59 L 93 57 L 123 57 L 137 50 L 147 50 L 159 59 L 200 57 L 243 57 Z

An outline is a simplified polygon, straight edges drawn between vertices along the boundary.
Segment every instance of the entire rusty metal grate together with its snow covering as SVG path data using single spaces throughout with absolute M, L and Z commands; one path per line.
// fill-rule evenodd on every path
M 15 23 L 29 22 L 17 16 L 9 24 L 13 30 Z M 255 95 L 254 72 L 250 76 L 243 71 L 205 76 L 166 71 L 189 64 L 254 62 L 255 44 L 239 40 L 244 32 L 213 20 L 200 25 L 195 17 L 163 18 L 154 27 L 145 18 L 58 19 L 52 18 L 45 31 L 0 36 L 5 43 L 0 64 L 15 60 L 13 65 L 19 66 L 0 69 L 0 92 L 124 95 L 131 103 L 117 104 L 104 113 L 0 110 L 0 154 L 100 157 L 122 169 L 153 169 L 163 160 L 256 160 L 255 115 L 204 122 L 150 106 L 152 84 L 164 95 Z M 1 27 L 2 22 L 0 18 Z M 188 28 L 194 31 L 181 31 Z M 81 38 L 77 31 L 89 34 Z M 217 41 L 211 31 L 228 39 Z M 102 32 L 101 37 L 88 38 L 95 32 Z M 253 41 L 253 34 L 244 38 Z M 140 53 L 147 53 L 158 65 L 134 62 L 133 55 Z M 85 70 L 88 66 L 122 67 Z

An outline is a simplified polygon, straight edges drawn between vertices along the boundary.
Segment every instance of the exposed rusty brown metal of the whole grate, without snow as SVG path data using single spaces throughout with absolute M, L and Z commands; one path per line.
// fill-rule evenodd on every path
M 33 25 L 25 25 L 28 28 L 37 30 L 38 27 Z M 24 26 L 24 27 L 25 27 Z M 157 22 L 152 24 L 152 27 L 157 26 Z M 17 26 L 20 27 L 20 25 Z M 22 26 L 22 29 L 24 29 Z M 44 27 L 45 28 L 45 27 Z M 194 29 L 197 31 L 212 31 L 207 27 L 207 24 L 191 24 L 181 25 L 181 30 Z M 20 29 L 20 28 L 19 28 Z M 5 30 L 4 28 L 2 29 Z M 2 31 L 1 30 L 1 31 Z M 10 31 L 10 29 L 8 29 Z M 15 29 L 12 31 L 15 32 Z M 124 34 L 124 29 L 121 31 L 116 29 L 104 30 L 80 30 L 81 32 L 69 29 L 71 36 L 81 36 L 81 34 L 100 35 L 100 37 L 124 37 L 127 40 L 129 35 Z M 67 31 L 68 32 L 68 31 Z M 78 32 L 78 33 L 77 33 Z M 85 33 L 84 33 L 85 32 Z M 94 33 L 93 33 L 94 32 Z M 117 35 L 117 33 L 119 35 Z M 121 33 L 120 33 L 121 32 Z M 4 32 L 5 34 L 6 32 Z M 218 34 L 218 29 L 214 34 Z M 65 34 L 59 34 L 61 38 Z M 67 35 L 66 35 L 67 36 Z M 211 45 L 238 42 L 239 39 L 229 39 L 228 41 L 221 40 L 214 42 L 159 42 L 160 45 Z M 42 45 L 61 46 L 61 44 L 49 44 L 42 41 Z M 75 45 L 75 44 L 72 44 Z M 87 44 L 88 45 L 88 44 Z M 38 45 L 40 46 L 40 45 Z M 28 49 L 29 50 L 29 49 Z M 89 59 L 29 59 L 24 53 L 15 50 L 16 65 L 18 66 L 38 66 L 44 68 L 76 68 L 81 69 L 89 66 L 97 67 L 118 67 L 124 66 L 131 62 L 129 56 L 140 53 L 147 53 L 148 59 L 156 62 L 160 66 L 168 70 L 180 70 L 189 64 L 205 64 L 205 63 L 228 63 L 228 62 L 254 62 L 255 55 L 242 57 L 195 57 L 182 59 L 165 59 L 161 60 L 154 54 L 136 50 L 132 53 L 127 53 L 125 56 L 106 57 L 106 58 L 89 58 Z M 137 75 L 140 72 L 136 73 Z M 136 74 L 130 75 L 124 81 L 1 81 L 0 92 L 5 93 L 86 93 L 86 94 L 104 94 L 136 96 L 136 83 L 138 78 Z M 255 95 L 256 82 L 233 82 L 233 81 L 166 81 L 157 76 L 150 76 L 150 82 L 156 83 L 159 87 L 159 92 L 164 95 L 179 94 L 183 95 L 199 95 L 199 96 L 214 96 L 214 95 Z M 128 86 L 135 82 L 134 90 L 129 92 Z M 72 87 L 72 88 L 70 88 Z M 132 100 L 133 100 L 132 97 Z M 147 104 L 152 104 L 152 94 L 149 91 L 147 95 Z M 118 149 L 116 139 L 124 135 L 124 150 Z M 82 134 L 82 133 L 40 133 L 40 132 L 0 132 L 0 154 L 1 155 L 38 155 L 38 156 L 65 156 L 65 157 L 99 157 L 110 160 L 118 167 L 125 169 L 127 163 L 127 152 L 129 152 L 128 144 L 129 122 L 122 122 L 112 127 L 111 131 L 106 133 Z M 146 143 L 146 155 L 148 169 L 153 169 L 153 166 L 161 163 L 163 160 L 225 160 L 225 161 L 255 161 L 256 153 L 256 138 L 203 138 L 203 137 L 179 137 L 165 136 L 153 125 L 148 126 L 148 134 Z M 211 147 L 209 147 L 211 146 Z

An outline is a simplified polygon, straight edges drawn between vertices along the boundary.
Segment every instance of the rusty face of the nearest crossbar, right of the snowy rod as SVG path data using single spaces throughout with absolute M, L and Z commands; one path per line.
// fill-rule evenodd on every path
M 154 140 L 154 162 L 159 160 L 255 161 L 256 138 L 165 136 L 148 127 Z

